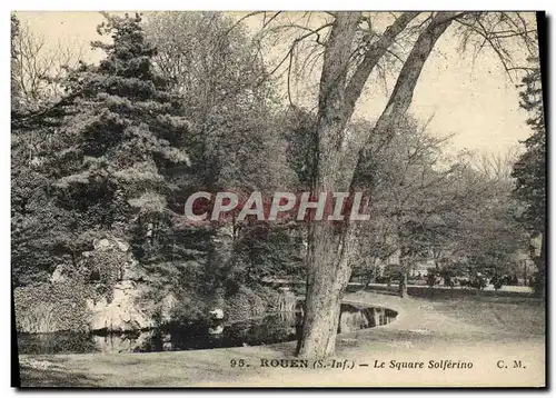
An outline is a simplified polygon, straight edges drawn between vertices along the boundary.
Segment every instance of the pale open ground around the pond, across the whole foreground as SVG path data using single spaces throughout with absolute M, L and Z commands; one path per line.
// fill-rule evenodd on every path
M 20 356 L 22 386 L 545 385 L 545 309 L 538 300 L 515 296 L 400 299 L 369 291 L 349 293 L 346 300 L 399 312 L 389 325 L 338 336 L 334 359 L 353 369 L 264 366 L 261 359 L 292 359 L 295 342 L 175 352 Z M 249 367 L 231 367 L 231 359 L 244 359 Z M 423 361 L 425 367 L 390 368 L 393 360 Z M 471 362 L 473 367 L 428 368 L 431 360 Z M 374 367 L 381 362 L 384 368 Z

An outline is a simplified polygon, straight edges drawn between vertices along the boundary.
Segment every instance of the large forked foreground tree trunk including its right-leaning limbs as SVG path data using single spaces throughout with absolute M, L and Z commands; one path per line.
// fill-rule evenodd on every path
M 365 60 L 348 81 L 353 64 L 354 38 L 360 21 L 359 12 L 336 12 L 322 60 L 316 133 L 316 170 L 312 193 L 354 191 L 353 179 L 338 180 L 339 160 L 346 137 L 346 125 L 355 103 L 376 63 L 391 46 L 397 34 L 417 16 L 406 12 L 370 46 Z M 437 13 L 424 29 L 409 53 L 388 105 L 376 129 L 384 135 L 389 126 L 408 109 L 423 66 L 436 40 L 450 23 L 453 12 Z M 360 157 L 358 163 L 360 162 Z M 351 176 L 355 168 L 351 169 Z M 348 188 L 349 187 L 349 188 Z M 356 249 L 354 223 L 341 226 L 327 221 L 310 225 L 307 253 L 307 293 L 300 357 L 324 358 L 334 355 L 340 301 L 351 273 L 350 258 Z

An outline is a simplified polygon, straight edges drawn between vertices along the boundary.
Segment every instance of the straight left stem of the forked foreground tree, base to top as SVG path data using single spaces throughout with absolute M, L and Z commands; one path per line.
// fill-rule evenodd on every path
M 345 83 L 351 41 L 359 19 L 357 12 L 338 12 L 324 56 L 315 156 L 317 167 L 312 192 L 334 192 L 337 185 L 346 113 Z M 326 216 L 325 216 L 326 218 Z M 351 273 L 348 261 L 348 230 L 322 220 L 309 226 L 307 250 L 307 293 L 298 356 L 322 358 L 334 354 L 340 300 Z

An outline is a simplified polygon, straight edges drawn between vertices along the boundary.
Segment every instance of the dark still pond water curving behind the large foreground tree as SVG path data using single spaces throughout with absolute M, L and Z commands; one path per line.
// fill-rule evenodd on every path
M 396 311 L 342 304 L 338 332 L 391 322 Z M 19 334 L 19 354 L 152 352 L 260 346 L 297 339 L 301 315 L 279 312 L 235 324 L 215 320 L 205 325 L 167 327 L 132 334 L 95 335 L 71 331 Z

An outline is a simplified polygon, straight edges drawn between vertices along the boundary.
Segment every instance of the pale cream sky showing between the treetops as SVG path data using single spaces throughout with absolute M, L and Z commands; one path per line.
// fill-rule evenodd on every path
M 96 60 L 91 40 L 98 40 L 98 12 L 18 12 L 31 31 L 50 44 L 78 46 L 87 60 Z M 409 111 L 421 121 L 430 118 L 428 129 L 439 136 L 453 133 L 447 150 L 463 149 L 502 155 L 519 146 L 530 135 L 527 113 L 518 106 L 516 81 L 512 82 L 492 50 L 474 62 L 470 53 L 457 51 L 454 34 L 444 34 L 427 60 L 417 83 Z M 519 49 L 517 49 L 519 51 Z M 391 87 L 390 87 L 391 89 Z M 384 90 L 367 88 L 358 101 L 356 118 L 376 120 L 387 97 Z

